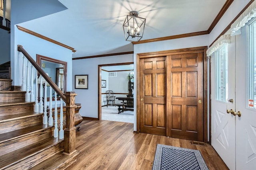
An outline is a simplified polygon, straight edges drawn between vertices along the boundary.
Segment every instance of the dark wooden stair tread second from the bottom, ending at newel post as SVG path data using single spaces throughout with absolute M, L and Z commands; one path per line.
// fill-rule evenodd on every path
M 0 156 L 0 168 L 19 162 L 20 160 L 24 160 L 30 156 L 36 155 L 38 152 L 41 152 L 42 150 L 45 150 L 53 146 L 54 144 L 59 143 L 60 141 L 62 140 L 54 137 L 49 137 L 37 143 L 33 143 L 32 145 L 28 145 L 26 147 L 14 150 L 13 152 L 4 154 Z

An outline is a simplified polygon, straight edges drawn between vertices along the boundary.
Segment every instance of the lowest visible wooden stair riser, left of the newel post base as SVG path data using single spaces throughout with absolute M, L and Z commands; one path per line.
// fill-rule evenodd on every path
M 50 148 L 43 150 L 42 152 L 39 152 L 38 154 L 35 154 L 29 158 L 21 160 L 20 162 L 16 162 L 16 164 L 13 164 L 12 166 L 9 166 L 3 169 L 4 170 L 17 170 L 17 169 L 28 170 L 33 166 L 39 164 L 40 162 L 43 162 L 44 160 L 50 158 L 56 152 L 61 152 L 63 150 L 63 147 L 64 147 L 63 142 L 59 143 L 57 145 L 54 145 Z

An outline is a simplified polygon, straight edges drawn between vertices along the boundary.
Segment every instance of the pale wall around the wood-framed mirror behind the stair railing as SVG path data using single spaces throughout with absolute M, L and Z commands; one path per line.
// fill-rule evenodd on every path
M 22 45 L 28 54 L 36 61 L 36 54 L 67 62 L 67 91 L 72 91 L 72 51 L 40 39 L 14 27 L 14 55 L 11 57 L 13 85 L 22 84 L 22 57 L 17 51 L 17 46 Z M 27 60 L 26 60 L 27 61 Z

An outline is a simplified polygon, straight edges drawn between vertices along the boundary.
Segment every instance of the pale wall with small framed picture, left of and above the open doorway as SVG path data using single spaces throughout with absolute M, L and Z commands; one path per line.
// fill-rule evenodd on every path
M 98 118 L 98 65 L 129 62 L 133 62 L 132 54 L 73 60 L 73 77 L 88 74 L 88 89 L 75 89 L 74 82 L 72 85 L 73 91 L 78 94 L 76 103 L 82 106 L 79 111 L 81 116 Z

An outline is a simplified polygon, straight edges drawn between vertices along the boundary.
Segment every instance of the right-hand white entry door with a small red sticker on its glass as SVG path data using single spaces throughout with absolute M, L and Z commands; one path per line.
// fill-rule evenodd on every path
M 243 43 L 246 41 L 250 42 L 247 46 Z M 256 21 L 236 36 L 238 111 L 241 117 L 236 115 L 236 170 L 256 170 Z

